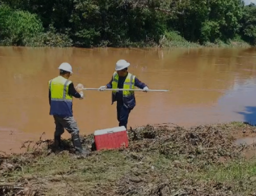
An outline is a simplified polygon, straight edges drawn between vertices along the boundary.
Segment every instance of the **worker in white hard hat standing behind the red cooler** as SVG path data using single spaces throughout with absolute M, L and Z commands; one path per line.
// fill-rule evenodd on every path
M 105 86 L 100 86 L 99 91 L 104 91 L 104 89 L 134 89 L 136 86 L 147 92 L 147 85 L 128 72 L 129 66 L 130 63 L 126 60 L 118 60 L 116 62 L 116 72 L 114 72 L 111 81 Z M 127 128 L 129 114 L 136 105 L 134 91 L 112 91 L 112 104 L 115 101 L 117 101 L 119 126 Z

